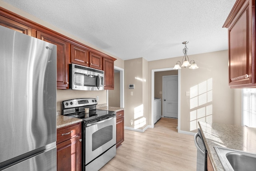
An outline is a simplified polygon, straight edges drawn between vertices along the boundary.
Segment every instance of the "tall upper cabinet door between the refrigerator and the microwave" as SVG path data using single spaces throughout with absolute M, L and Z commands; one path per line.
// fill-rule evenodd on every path
M 40 31 L 37 31 L 37 38 L 57 46 L 57 89 L 68 89 L 70 44 Z

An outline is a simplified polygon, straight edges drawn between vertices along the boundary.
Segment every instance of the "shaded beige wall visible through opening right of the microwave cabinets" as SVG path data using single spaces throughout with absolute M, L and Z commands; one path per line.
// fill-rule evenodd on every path
M 120 107 L 120 72 L 114 74 L 114 89 L 108 90 L 108 105 Z

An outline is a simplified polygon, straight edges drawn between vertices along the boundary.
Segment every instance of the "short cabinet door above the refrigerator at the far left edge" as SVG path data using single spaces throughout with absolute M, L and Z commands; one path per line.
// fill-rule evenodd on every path
M 17 32 L 32 36 L 32 29 L 30 27 L 19 22 L 16 22 L 14 20 L 11 20 L 9 18 L 6 18 L 4 16 L 0 16 L 0 26 L 4 26 Z

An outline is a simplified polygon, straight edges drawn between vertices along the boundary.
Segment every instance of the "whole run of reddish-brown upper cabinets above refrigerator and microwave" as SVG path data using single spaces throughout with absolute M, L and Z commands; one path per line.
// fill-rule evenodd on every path
M 2 7 L 0 7 L 0 25 L 57 46 L 57 89 L 69 89 L 68 64 L 71 63 L 104 70 L 104 88 L 114 89 L 115 58 Z

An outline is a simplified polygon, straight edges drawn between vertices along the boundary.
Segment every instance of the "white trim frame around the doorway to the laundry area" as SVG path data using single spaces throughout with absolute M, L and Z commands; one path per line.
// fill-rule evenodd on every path
M 155 98 L 155 72 L 164 72 L 164 71 L 171 71 L 171 70 L 173 70 L 173 68 L 161 68 L 161 69 L 151 70 L 151 127 L 152 128 L 154 128 L 154 123 L 153 123 L 154 122 L 153 121 L 154 105 L 153 104 L 154 104 L 154 98 Z M 180 70 L 178 70 L 178 132 L 180 132 L 180 76 L 181 76 Z M 162 83 L 162 80 L 161 80 L 161 83 Z M 162 92 L 156 92 L 156 93 L 162 93 Z M 162 94 L 161 94 L 161 98 L 162 98 Z

